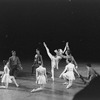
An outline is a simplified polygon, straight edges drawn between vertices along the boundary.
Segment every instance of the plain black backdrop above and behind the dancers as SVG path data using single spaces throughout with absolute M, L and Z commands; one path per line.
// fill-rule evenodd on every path
M 0 0 L 0 60 L 16 50 L 20 59 L 33 59 L 42 42 L 51 51 L 69 46 L 76 60 L 100 59 L 99 0 Z

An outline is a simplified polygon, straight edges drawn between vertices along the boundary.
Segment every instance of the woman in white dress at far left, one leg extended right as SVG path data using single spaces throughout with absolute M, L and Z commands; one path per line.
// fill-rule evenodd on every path
M 9 62 L 6 63 L 4 66 L 4 73 L 2 75 L 1 83 L 3 88 L 8 88 L 9 83 L 12 83 L 12 81 L 15 83 L 15 85 L 18 87 L 19 85 L 17 84 L 14 76 L 9 75 L 10 70 L 9 70 Z

